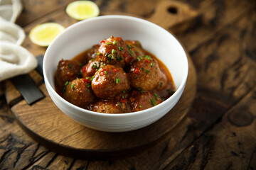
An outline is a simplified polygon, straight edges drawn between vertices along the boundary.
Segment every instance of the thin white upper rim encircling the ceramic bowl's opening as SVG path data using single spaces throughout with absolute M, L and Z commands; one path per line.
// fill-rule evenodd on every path
M 186 63 L 186 67 L 185 67 L 185 75 L 184 75 L 184 78 L 182 79 L 181 81 L 181 84 L 180 86 L 178 87 L 178 89 L 176 89 L 175 93 L 170 96 L 169 98 L 167 98 L 165 101 L 159 103 L 158 105 L 154 106 L 154 107 L 151 107 L 151 108 L 147 108 L 143 111 L 137 111 L 137 112 L 130 112 L 130 113 L 98 113 L 98 112 L 95 112 L 95 111 L 90 111 L 90 110 L 87 110 L 85 108 L 80 108 L 78 106 L 75 106 L 73 103 L 70 103 L 68 101 L 66 101 L 64 98 L 62 98 L 56 91 L 55 89 L 53 89 L 53 86 L 50 85 L 50 82 L 48 80 L 48 75 L 47 75 L 47 72 L 46 72 L 46 58 L 48 56 L 48 53 L 50 51 L 50 49 L 53 47 L 54 43 L 63 35 L 63 34 L 67 34 L 70 30 L 72 30 L 73 28 L 75 27 L 78 27 L 82 24 L 85 24 L 85 23 L 90 23 L 90 22 L 93 22 L 93 21 L 100 21 L 100 20 L 105 20 L 105 19 L 115 19 L 115 18 L 118 18 L 118 19 L 125 19 L 125 20 L 129 20 L 129 21 L 137 21 L 137 22 L 142 22 L 144 24 L 148 24 L 149 26 L 152 26 L 152 27 L 155 27 L 163 32 L 165 32 L 167 35 L 171 36 L 176 42 L 178 45 L 181 46 L 181 50 L 182 50 L 182 53 L 183 55 L 186 57 L 186 59 L 184 60 Z M 165 30 L 164 28 L 162 28 L 161 26 L 158 26 L 156 25 L 155 23 L 151 23 L 150 21 L 146 21 L 142 18 L 137 18 L 137 17 L 134 17 L 134 16 L 122 16 L 122 15 L 107 15 L 107 16 L 97 16 L 95 18 L 88 18 L 86 20 L 83 20 L 83 21 L 78 21 L 77 23 L 74 23 L 73 25 L 71 26 L 68 26 L 68 28 L 65 28 L 65 30 L 63 30 L 59 35 L 56 36 L 56 38 L 50 42 L 50 45 L 48 46 L 48 48 L 46 49 L 46 52 L 45 52 L 45 55 L 43 57 L 43 77 L 44 77 L 44 81 L 45 81 L 45 84 L 46 84 L 46 87 L 48 86 L 47 90 L 48 90 L 48 94 L 50 95 L 49 93 L 49 90 L 50 92 L 52 93 L 52 95 L 54 95 L 56 98 L 58 98 L 58 100 L 60 100 L 61 102 L 64 102 L 66 105 L 68 105 L 68 107 L 70 108 L 74 108 L 75 110 L 77 111 L 80 111 L 80 113 L 87 113 L 87 114 L 90 114 L 90 115 L 99 115 L 101 117 L 114 117 L 114 118 L 117 118 L 117 117 L 127 117 L 127 116 L 132 116 L 132 115 L 143 115 L 145 113 L 148 113 L 150 111 L 154 111 L 154 110 L 157 110 L 157 108 L 160 108 L 162 105 L 164 105 L 165 103 L 168 103 L 169 101 L 172 100 L 172 98 L 176 98 L 178 97 L 178 94 L 181 93 L 182 95 L 182 91 L 183 91 L 183 86 L 185 88 L 186 86 L 186 80 L 187 80 L 187 77 L 188 77 L 188 56 L 186 55 L 186 52 L 183 48 L 183 46 L 181 45 L 181 43 L 174 37 L 174 35 L 172 35 L 171 33 L 169 33 L 169 31 Z M 180 93 L 179 93 L 180 92 Z M 52 99 L 52 98 L 51 98 Z M 53 99 L 52 99 L 53 100 Z M 76 115 L 76 114 L 75 114 Z

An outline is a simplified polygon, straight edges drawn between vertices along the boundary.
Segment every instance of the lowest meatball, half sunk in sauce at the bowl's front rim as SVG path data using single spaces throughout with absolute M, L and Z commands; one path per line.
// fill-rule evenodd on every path
M 122 104 L 110 100 L 100 100 L 93 103 L 91 106 L 92 111 L 99 113 L 124 113 Z

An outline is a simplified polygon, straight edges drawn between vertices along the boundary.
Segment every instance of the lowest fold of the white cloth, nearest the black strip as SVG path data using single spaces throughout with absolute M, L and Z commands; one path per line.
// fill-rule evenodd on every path
M 35 57 L 11 42 L 0 42 L 0 81 L 26 74 L 37 66 Z

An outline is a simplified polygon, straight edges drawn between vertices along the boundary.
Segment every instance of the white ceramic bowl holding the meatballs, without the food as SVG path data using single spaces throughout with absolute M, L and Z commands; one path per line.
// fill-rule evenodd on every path
M 87 111 L 61 98 L 55 92 L 53 81 L 59 60 L 71 59 L 110 35 L 124 40 L 139 40 L 144 49 L 164 62 L 176 84 L 174 95 L 144 111 L 122 114 Z M 178 40 L 154 23 L 129 16 L 99 16 L 75 23 L 50 43 L 43 59 L 43 74 L 53 102 L 70 118 L 95 130 L 125 132 L 154 123 L 175 106 L 186 85 L 188 60 Z

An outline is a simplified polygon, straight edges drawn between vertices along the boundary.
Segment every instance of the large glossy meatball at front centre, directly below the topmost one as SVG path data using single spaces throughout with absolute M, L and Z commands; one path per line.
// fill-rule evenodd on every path
M 105 65 L 95 73 L 92 80 L 92 90 L 98 98 L 113 98 L 127 89 L 129 80 L 121 67 Z

